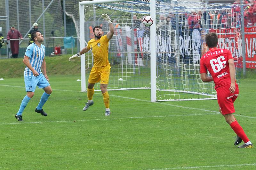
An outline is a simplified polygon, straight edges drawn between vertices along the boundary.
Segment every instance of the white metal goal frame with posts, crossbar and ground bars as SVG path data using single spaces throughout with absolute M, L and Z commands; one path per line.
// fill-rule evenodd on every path
M 80 50 L 85 47 L 85 34 L 84 34 L 84 5 L 91 4 L 107 4 L 107 3 L 115 3 L 115 2 L 127 2 L 129 0 L 92 0 L 92 1 L 82 1 L 79 2 L 79 22 L 80 22 Z M 150 15 L 153 18 L 154 22 L 150 26 L 150 35 L 156 35 L 156 0 L 150 0 Z M 176 21 L 177 22 L 177 21 Z M 85 54 L 81 55 L 81 91 L 85 92 L 86 89 L 86 75 L 85 75 Z M 141 88 L 132 88 L 132 89 L 141 89 Z M 109 89 L 109 90 L 125 90 L 125 89 Z M 191 93 L 209 96 L 206 98 L 188 98 L 188 99 L 167 99 L 167 100 L 156 100 L 156 36 L 150 37 L 150 101 L 189 101 L 189 100 L 215 100 L 217 96 L 209 95 L 206 93 L 198 93 L 198 92 L 189 92 L 183 90 L 167 90 L 172 92 L 181 92 L 181 93 Z M 161 89 L 159 89 L 162 91 Z

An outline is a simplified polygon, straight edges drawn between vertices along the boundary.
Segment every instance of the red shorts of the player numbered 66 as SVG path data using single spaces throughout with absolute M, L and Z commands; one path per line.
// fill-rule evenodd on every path
M 217 90 L 218 103 L 223 115 L 234 113 L 234 102 L 239 94 L 238 85 L 236 84 L 235 93 L 230 93 L 230 86 L 225 86 Z

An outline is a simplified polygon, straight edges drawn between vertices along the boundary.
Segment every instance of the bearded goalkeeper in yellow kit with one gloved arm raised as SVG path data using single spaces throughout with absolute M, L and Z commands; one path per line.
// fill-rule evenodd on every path
M 94 94 L 94 84 L 100 81 L 100 89 L 103 95 L 104 104 L 106 106 L 105 116 L 109 116 L 109 95 L 107 87 L 110 74 L 110 64 L 108 62 L 108 41 L 114 34 L 114 27 L 107 14 L 102 14 L 101 18 L 108 21 L 109 32 L 107 35 L 102 36 L 102 28 L 100 26 L 95 26 L 93 28 L 94 39 L 88 41 L 88 45 L 86 47 L 84 47 L 79 53 L 70 57 L 68 60 L 75 60 L 77 57 L 80 57 L 80 55 L 92 50 L 94 62 L 88 79 L 88 102 L 84 106 L 83 110 L 85 111 L 89 108 L 89 106 L 93 105 L 92 96 Z

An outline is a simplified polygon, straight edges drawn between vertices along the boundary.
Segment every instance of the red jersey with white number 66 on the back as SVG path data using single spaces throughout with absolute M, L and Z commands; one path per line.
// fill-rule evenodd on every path
M 231 84 L 229 59 L 234 59 L 231 52 L 222 48 L 211 48 L 200 59 L 200 74 L 209 71 L 215 90 Z

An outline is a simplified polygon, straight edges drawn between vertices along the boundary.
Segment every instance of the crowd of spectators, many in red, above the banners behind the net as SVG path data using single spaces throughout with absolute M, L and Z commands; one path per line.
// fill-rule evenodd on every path
M 234 6 L 229 9 L 209 11 L 209 28 L 231 28 L 239 27 L 241 18 L 240 0 L 236 0 Z M 244 26 L 256 26 L 256 0 L 244 1 Z M 169 16 L 160 15 L 157 19 L 156 30 L 163 26 L 170 25 L 175 29 L 176 18 L 175 15 Z M 206 28 L 207 13 L 206 11 L 192 11 L 178 15 L 179 27 L 187 27 L 188 29 Z M 166 29 L 166 28 L 165 28 Z

